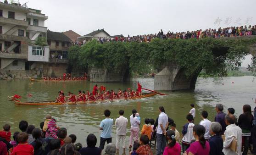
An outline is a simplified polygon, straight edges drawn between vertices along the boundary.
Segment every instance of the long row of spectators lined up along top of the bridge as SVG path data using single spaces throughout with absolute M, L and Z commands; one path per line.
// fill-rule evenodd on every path
M 152 39 L 160 38 L 160 39 L 202 39 L 202 38 L 220 38 L 220 37 L 237 37 L 237 36 L 247 36 L 247 35 L 256 35 L 256 25 L 248 27 L 240 26 L 240 27 L 227 27 L 227 28 L 218 28 L 212 29 L 208 28 L 206 30 L 196 30 L 196 31 L 187 31 L 187 32 L 176 32 L 173 33 L 168 31 L 167 33 L 163 33 L 160 30 L 158 33 L 155 34 L 144 34 L 144 35 L 137 35 L 137 36 L 130 36 L 128 37 L 100 37 L 97 40 L 103 43 L 109 43 L 113 41 L 120 41 L 120 42 L 150 42 Z M 77 40 L 75 41 L 76 45 L 83 45 L 86 44 L 85 40 Z

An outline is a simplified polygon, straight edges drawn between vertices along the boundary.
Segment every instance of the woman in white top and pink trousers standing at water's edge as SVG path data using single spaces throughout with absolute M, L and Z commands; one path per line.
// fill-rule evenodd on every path
M 138 142 L 139 140 L 139 124 L 140 121 L 138 119 L 138 117 L 136 116 L 136 109 L 132 110 L 132 115 L 130 116 L 130 122 L 131 122 L 131 136 L 130 136 L 130 145 L 129 148 L 132 148 L 132 143 L 133 143 L 133 138 L 134 142 Z

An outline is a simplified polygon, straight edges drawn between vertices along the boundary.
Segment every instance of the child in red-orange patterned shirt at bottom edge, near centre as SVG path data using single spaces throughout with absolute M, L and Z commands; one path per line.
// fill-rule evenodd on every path
M 149 146 L 149 138 L 146 135 L 142 135 L 140 138 L 140 146 L 136 149 L 138 155 L 153 155 L 151 148 Z

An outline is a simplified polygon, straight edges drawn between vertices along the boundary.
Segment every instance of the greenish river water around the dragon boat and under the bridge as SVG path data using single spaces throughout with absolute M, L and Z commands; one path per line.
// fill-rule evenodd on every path
M 133 88 L 136 89 L 136 81 L 140 81 L 144 88 L 154 89 L 153 78 L 133 79 L 129 83 L 97 83 L 105 85 L 107 89 Z M 256 81 L 256 80 L 255 80 Z M 86 146 L 86 136 L 94 133 L 100 142 L 99 124 L 104 119 L 103 111 L 111 110 L 111 118 L 114 120 L 118 117 L 118 111 L 124 110 L 124 116 L 129 119 L 132 109 L 137 109 L 140 114 L 142 123 L 145 118 L 154 118 L 159 115 L 158 107 L 164 106 L 169 117 L 173 118 L 178 130 L 181 132 L 182 126 L 186 123 L 186 115 L 189 113 L 190 104 L 195 104 L 196 117 L 195 123 L 199 123 L 200 112 L 206 110 L 209 113 L 209 120 L 215 116 L 215 105 L 222 103 L 224 111 L 229 107 L 235 109 L 235 115 L 242 113 L 242 106 L 249 104 L 254 109 L 256 98 L 256 83 L 254 77 L 226 77 L 226 78 L 198 78 L 195 91 L 175 91 L 164 92 L 168 95 L 156 95 L 154 97 L 121 101 L 104 104 L 90 105 L 56 105 L 56 106 L 21 106 L 14 105 L 7 100 L 7 96 L 19 94 L 22 101 L 46 101 L 54 100 L 58 91 L 65 93 L 71 91 L 77 94 L 78 90 L 92 90 L 96 83 L 90 82 L 30 82 L 29 80 L 1 80 L 0 81 L 0 127 L 9 123 L 11 132 L 19 131 L 18 123 L 26 120 L 29 124 L 39 127 L 43 122 L 46 114 L 51 114 L 56 119 L 58 126 L 66 127 L 68 134 L 76 134 L 77 142 Z M 28 97 L 32 94 L 32 97 Z M 128 134 L 130 124 L 128 123 Z M 112 142 L 116 142 L 116 130 L 112 128 Z M 128 146 L 128 137 L 126 139 Z

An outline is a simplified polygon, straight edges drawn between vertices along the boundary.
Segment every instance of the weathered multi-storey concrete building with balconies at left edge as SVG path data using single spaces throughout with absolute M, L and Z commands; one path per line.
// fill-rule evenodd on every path
M 31 75 L 38 62 L 47 62 L 49 47 L 35 46 L 34 40 L 47 36 L 45 20 L 39 10 L 17 3 L 0 2 L 0 72 L 14 77 Z

